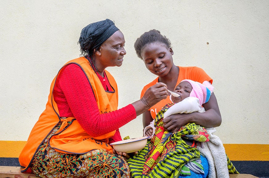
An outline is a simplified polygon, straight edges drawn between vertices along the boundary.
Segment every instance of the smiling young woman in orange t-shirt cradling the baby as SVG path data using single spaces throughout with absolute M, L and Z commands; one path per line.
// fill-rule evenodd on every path
M 203 83 L 204 81 L 209 81 L 211 84 L 213 80 L 205 73 L 205 71 L 198 67 L 180 67 L 176 66 L 173 63 L 172 55 L 174 54 L 171 43 L 168 38 L 161 35 L 158 30 L 150 30 L 141 35 L 134 43 L 134 48 L 136 54 L 141 58 L 146 68 L 153 74 L 157 75 L 157 78 L 154 79 L 151 83 L 148 83 L 141 92 L 141 97 L 145 94 L 147 89 L 151 86 L 154 86 L 156 83 L 165 83 L 168 90 L 174 91 L 176 85 L 184 79 L 190 79 Z M 169 93 L 170 95 L 170 93 Z M 169 96 L 166 99 L 161 100 L 154 106 L 150 107 L 149 110 L 143 113 L 143 126 L 144 128 L 150 124 L 150 122 L 155 119 L 156 114 L 165 106 L 167 103 L 171 103 Z M 193 112 L 189 114 L 173 114 L 163 119 L 163 128 L 166 131 L 174 132 L 180 130 L 182 126 L 185 126 L 188 123 L 195 123 L 204 127 L 217 127 L 221 124 L 221 114 L 217 104 L 217 99 L 212 93 L 209 101 L 203 104 L 205 112 Z M 134 165 L 128 161 L 130 167 L 134 166 L 131 172 L 135 172 L 140 169 L 137 165 Z M 149 162 L 147 162 L 149 163 Z M 164 163 L 161 161 L 161 163 Z M 180 171 L 180 176 L 188 177 L 207 177 L 209 173 L 209 164 L 207 159 L 201 155 L 199 161 L 191 161 L 190 165 L 198 165 L 195 167 L 184 167 Z M 162 168 L 168 168 L 173 166 L 172 162 L 166 162 Z M 157 164 L 160 166 L 159 164 Z M 158 167 L 152 172 L 154 176 L 162 176 L 162 168 Z M 198 168 L 198 169 L 197 169 Z M 143 168 L 143 171 L 146 172 L 147 165 Z M 169 169 L 171 170 L 171 169 Z M 187 172 L 184 172 L 188 170 Z M 134 176 L 132 172 L 132 176 Z M 167 174 L 166 174 L 167 175 Z M 175 175 L 174 175 L 175 176 Z M 167 175 L 167 177 L 170 177 Z M 186 178 L 186 177 L 185 177 Z

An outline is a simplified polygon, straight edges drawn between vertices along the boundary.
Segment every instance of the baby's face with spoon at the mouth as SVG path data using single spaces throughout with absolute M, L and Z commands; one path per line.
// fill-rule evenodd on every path
M 190 93 L 192 91 L 192 85 L 188 83 L 187 81 L 180 82 L 174 92 L 178 93 L 180 97 L 171 96 L 173 103 L 178 103 L 182 101 L 185 98 L 188 98 L 190 96 Z

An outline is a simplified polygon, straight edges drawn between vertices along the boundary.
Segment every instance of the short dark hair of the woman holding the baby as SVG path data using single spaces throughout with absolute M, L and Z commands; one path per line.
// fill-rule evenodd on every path
M 137 56 L 140 59 L 142 59 L 141 52 L 143 48 L 146 46 L 146 44 L 150 44 L 154 42 L 163 43 L 167 45 L 168 48 L 171 47 L 170 40 L 166 36 L 161 35 L 159 30 L 153 29 L 153 30 L 143 33 L 143 35 L 141 35 L 139 38 L 136 39 L 134 43 L 134 49 Z

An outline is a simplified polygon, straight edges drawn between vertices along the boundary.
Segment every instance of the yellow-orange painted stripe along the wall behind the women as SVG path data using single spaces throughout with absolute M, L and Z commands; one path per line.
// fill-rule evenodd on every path
M 0 141 L 0 157 L 19 157 L 26 141 Z M 269 145 L 223 144 L 231 161 L 269 161 Z

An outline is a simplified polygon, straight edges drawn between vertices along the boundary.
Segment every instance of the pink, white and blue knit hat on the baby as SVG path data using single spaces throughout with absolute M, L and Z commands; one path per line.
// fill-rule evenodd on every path
M 204 81 L 203 84 L 189 79 L 182 80 L 181 82 L 183 81 L 187 81 L 192 85 L 192 91 L 190 93 L 190 96 L 198 98 L 201 106 L 202 104 L 208 102 L 214 89 L 214 87 L 209 83 L 209 81 Z

